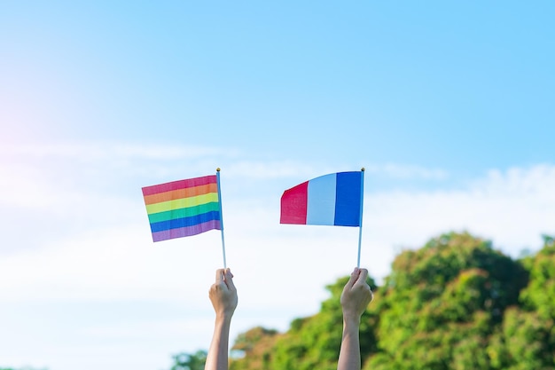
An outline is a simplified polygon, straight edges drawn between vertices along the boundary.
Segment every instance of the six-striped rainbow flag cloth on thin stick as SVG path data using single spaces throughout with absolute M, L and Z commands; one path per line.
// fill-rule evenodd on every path
M 219 182 L 215 175 L 143 187 L 152 240 L 222 230 Z

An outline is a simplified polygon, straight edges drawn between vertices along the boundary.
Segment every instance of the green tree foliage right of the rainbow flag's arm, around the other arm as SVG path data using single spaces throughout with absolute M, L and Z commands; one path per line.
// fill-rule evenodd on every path
M 555 242 L 513 260 L 467 232 L 442 234 L 395 257 L 363 315 L 364 370 L 555 368 Z M 256 327 L 233 349 L 231 370 L 334 370 L 339 356 L 340 294 L 327 286 L 315 315 L 285 333 Z

